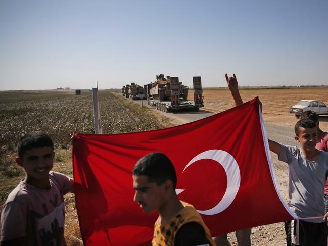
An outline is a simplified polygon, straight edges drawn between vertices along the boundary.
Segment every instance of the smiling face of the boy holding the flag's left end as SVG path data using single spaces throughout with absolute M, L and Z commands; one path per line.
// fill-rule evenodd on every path
M 25 169 L 27 176 L 34 179 L 49 179 L 49 171 L 54 166 L 55 152 L 52 147 L 39 147 L 25 151 L 16 162 Z

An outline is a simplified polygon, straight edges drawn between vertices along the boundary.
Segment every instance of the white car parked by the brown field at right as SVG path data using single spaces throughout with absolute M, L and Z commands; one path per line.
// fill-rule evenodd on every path
M 289 113 L 298 118 L 305 111 L 314 111 L 318 115 L 328 115 L 328 107 L 317 100 L 301 100 L 289 109 Z

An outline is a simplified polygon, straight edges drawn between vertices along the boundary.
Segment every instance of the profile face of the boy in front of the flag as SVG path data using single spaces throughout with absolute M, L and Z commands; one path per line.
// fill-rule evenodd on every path
M 157 185 L 155 182 L 148 182 L 147 176 L 133 175 L 133 188 L 135 189 L 133 200 L 146 214 L 162 207 L 165 196 L 164 183 Z

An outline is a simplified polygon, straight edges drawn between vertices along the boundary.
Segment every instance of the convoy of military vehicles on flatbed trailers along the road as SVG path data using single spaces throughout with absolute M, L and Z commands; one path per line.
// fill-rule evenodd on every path
M 189 88 L 179 82 L 179 77 L 165 78 L 164 74 L 157 74 L 156 81 L 144 87 L 135 83 L 123 86 L 122 95 L 132 97 L 132 100 L 147 99 L 149 105 L 164 112 L 184 109 L 197 111 L 204 107 L 201 77 L 193 77 L 193 86 L 194 100 L 187 100 Z

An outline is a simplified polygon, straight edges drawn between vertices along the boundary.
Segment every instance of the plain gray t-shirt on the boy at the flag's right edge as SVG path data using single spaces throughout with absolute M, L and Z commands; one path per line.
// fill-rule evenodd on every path
M 321 151 L 315 161 L 309 161 L 297 146 L 281 146 L 279 161 L 289 164 L 289 207 L 300 218 L 323 216 L 328 152 Z M 323 222 L 322 218 L 305 221 Z

